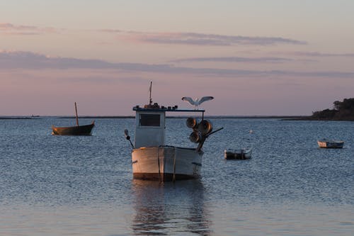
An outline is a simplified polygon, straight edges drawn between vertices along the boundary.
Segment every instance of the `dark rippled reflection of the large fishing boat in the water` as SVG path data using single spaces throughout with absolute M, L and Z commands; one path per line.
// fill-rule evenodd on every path
M 200 179 L 180 182 L 132 180 L 135 235 L 210 235 L 210 214 Z

